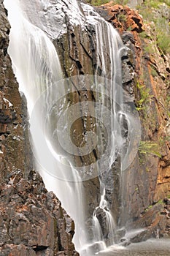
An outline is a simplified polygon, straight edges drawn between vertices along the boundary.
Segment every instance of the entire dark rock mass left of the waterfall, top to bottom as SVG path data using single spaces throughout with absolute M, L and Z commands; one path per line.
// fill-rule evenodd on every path
M 0 1 L 0 255 L 78 255 L 74 222 L 31 170 L 26 99 L 7 53 L 9 22 Z

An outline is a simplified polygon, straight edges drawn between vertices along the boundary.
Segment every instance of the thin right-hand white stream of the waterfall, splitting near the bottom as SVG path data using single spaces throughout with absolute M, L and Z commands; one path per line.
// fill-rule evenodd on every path
M 93 24 L 95 26 L 96 31 L 96 52 L 97 52 L 97 67 L 102 67 L 101 75 L 105 78 L 110 79 L 109 84 L 109 95 L 111 98 L 111 109 L 113 110 L 113 114 L 110 116 L 111 118 L 111 126 L 112 126 L 112 133 L 111 133 L 111 154 L 110 154 L 110 166 L 115 159 L 117 158 L 118 148 L 121 148 L 120 143 L 120 125 L 117 124 L 117 106 L 120 107 L 123 105 L 123 90 L 122 90 L 122 78 L 121 78 L 121 49 L 123 48 L 123 42 L 120 39 L 120 36 L 117 34 L 117 31 L 112 27 L 111 24 L 105 22 L 101 17 L 96 15 L 93 11 L 93 8 L 88 7 L 87 5 L 83 5 L 83 10 L 86 14 L 86 19 L 88 20 L 89 24 Z M 105 51 L 104 49 L 108 49 Z M 109 52 L 109 56 L 107 56 Z M 108 58 L 110 59 L 110 67 L 108 67 Z M 98 69 L 96 69 L 96 72 Z M 102 116 L 102 113 L 101 113 Z M 118 145 L 118 143 L 120 143 Z M 97 218 L 97 211 L 100 209 L 104 212 L 104 216 L 106 218 L 107 223 L 107 230 L 108 230 L 108 244 L 115 244 L 115 233 L 116 233 L 116 225 L 115 221 L 112 217 L 112 214 L 109 211 L 107 206 L 107 201 L 105 200 L 105 186 L 102 178 L 100 178 L 100 185 L 101 185 L 101 200 L 99 206 L 96 207 L 94 214 L 93 214 L 93 222 L 95 226 L 95 234 L 96 234 L 96 241 L 101 241 L 102 239 L 102 230 L 101 225 Z M 100 249 L 106 248 L 106 244 L 101 244 Z

